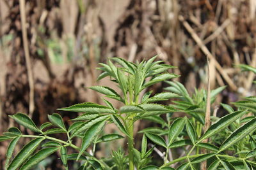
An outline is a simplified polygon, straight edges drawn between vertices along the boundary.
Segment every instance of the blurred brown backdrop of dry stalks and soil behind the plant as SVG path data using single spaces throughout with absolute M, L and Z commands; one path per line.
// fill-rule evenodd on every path
M 234 64 L 256 66 L 255 15 L 255 0 L 0 0 L 0 134 L 15 125 L 8 115 L 17 112 L 40 125 L 56 108 L 102 103 L 84 87 L 115 86 L 96 81 L 95 68 L 108 57 L 136 62 L 158 54 L 193 92 L 206 87 L 208 56 L 211 89 L 227 85 L 217 104 L 251 96 L 253 74 Z M 77 114 L 61 116 L 68 125 Z M 0 143 L 0 166 L 7 146 Z M 98 156 L 109 152 L 102 146 Z M 47 161 L 48 169 L 61 168 L 60 160 Z

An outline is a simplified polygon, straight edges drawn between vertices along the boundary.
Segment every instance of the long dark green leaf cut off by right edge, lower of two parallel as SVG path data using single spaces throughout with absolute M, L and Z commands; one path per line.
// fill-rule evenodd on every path
M 246 135 L 248 135 L 250 132 L 255 131 L 256 129 L 256 118 L 253 118 L 250 122 L 247 122 L 243 126 L 239 127 L 236 131 L 232 132 L 230 136 L 222 143 L 220 146 L 219 152 L 226 150 L 230 146 L 234 145 L 241 139 L 243 139 Z

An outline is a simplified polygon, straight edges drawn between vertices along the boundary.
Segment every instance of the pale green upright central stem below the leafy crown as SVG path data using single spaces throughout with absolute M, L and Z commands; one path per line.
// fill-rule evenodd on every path
M 129 170 L 134 170 L 134 158 L 133 158 L 133 120 L 132 120 L 132 117 L 129 120 L 128 133 L 131 136 L 131 138 L 128 138 Z

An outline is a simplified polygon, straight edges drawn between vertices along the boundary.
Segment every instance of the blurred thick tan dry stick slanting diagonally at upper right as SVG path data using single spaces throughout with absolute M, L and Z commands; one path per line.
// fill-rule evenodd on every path
M 225 73 L 225 71 L 223 71 L 223 68 L 220 66 L 220 64 L 217 62 L 217 60 L 214 58 L 214 56 L 211 54 L 211 52 L 209 52 L 208 48 L 204 45 L 202 39 L 200 39 L 198 37 L 198 35 L 196 34 L 196 32 L 192 29 L 192 27 L 188 24 L 188 22 L 186 22 L 184 20 L 184 17 L 182 17 L 181 15 L 179 15 L 179 20 L 180 22 L 182 22 L 182 24 L 184 25 L 184 27 L 187 29 L 187 31 L 189 32 L 189 34 L 191 34 L 192 38 L 196 41 L 197 45 L 201 48 L 202 52 L 205 53 L 205 55 L 207 55 L 207 57 L 209 57 L 211 60 L 214 60 L 215 62 L 215 66 L 216 69 L 220 72 L 221 76 L 223 76 L 223 78 L 227 81 L 228 85 L 230 86 L 230 88 L 234 91 L 237 91 L 237 87 L 234 84 L 234 82 L 231 80 L 231 78 L 228 76 L 227 73 Z

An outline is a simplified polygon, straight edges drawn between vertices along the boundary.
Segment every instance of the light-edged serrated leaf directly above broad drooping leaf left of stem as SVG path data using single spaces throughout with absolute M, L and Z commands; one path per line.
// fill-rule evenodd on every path
M 73 132 L 73 134 L 70 136 L 70 139 L 71 138 L 74 138 L 74 136 L 76 136 L 77 134 L 81 133 L 81 132 L 84 132 L 86 129 L 92 127 L 92 125 L 94 124 L 97 124 L 98 122 L 101 122 L 102 120 L 108 120 L 109 119 L 109 115 L 102 115 L 102 116 L 99 116 L 97 118 L 94 118 L 88 122 L 85 122 L 81 125 L 79 125 L 75 131 Z

